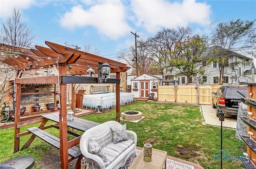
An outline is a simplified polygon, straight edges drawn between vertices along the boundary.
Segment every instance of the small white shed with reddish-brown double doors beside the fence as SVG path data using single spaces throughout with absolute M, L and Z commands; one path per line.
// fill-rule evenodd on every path
M 162 75 L 143 74 L 131 80 L 134 98 L 148 98 L 150 93 L 157 96 L 157 86 L 162 81 Z

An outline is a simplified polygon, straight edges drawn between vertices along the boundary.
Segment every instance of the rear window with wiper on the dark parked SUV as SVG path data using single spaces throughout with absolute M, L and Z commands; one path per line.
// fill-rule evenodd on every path
M 225 97 L 226 98 L 244 98 L 246 96 L 247 96 L 246 87 L 230 87 L 230 88 L 227 88 Z

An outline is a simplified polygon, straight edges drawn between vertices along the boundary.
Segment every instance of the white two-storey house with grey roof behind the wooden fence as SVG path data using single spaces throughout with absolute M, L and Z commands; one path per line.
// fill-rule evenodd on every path
M 214 52 L 215 51 L 215 52 Z M 223 76 L 223 85 L 238 85 L 244 82 L 251 82 L 252 75 L 251 72 L 252 67 L 254 67 L 253 60 L 249 57 L 241 55 L 239 53 L 235 53 L 224 49 L 219 46 L 208 47 L 204 53 L 201 55 L 202 66 L 204 66 L 205 74 L 199 76 L 199 83 L 202 85 L 216 85 L 219 81 L 220 69 L 219 63 L 211 63 L 207 64 L 206 60 L 210 57 L 220 57 L 220 53 L 218 51 L 222 51 L 225 55 L 228 56 L 226 60 L 227 66 L 224 67 L 224 76 Z M 169 64 L 164 65 L 164 67 L 170 67 Z M 197 75 L 196 73 L 190 76 L 190 79 L 186 77 L 182 72 L 178 69 L 175 69 L 170 73 L 174 80 L 178 81 L 179 84 L 186 83 L 197 83 Z

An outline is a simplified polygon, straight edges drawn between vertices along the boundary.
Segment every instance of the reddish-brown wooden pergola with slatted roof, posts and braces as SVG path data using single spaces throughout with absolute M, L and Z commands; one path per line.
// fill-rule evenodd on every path
M 36 49 L 30 49 L 31 52 L 13 53 L 13 56 L 6 57 L 1 61 L 13 66 L 16 70 L 15 83 L 15 131 L 14 131 L 14 152 L 20 149 L 20 137 L 30 134 L 29 132 L 20 133 L 20 127 L 41 122 L 44 126 L 46 121 L 43 118 L 20 122 L 21 105 L 21 85 L 22 84 L 58 84 L 61 108 L 59 111 L 60 120 L 60 167 L 68 169 L 68 147 L 79 144 L 80 138 L 72 143 L 67 140 L 67 108 L 66 108 L 66 90 L 67 84 L 72 84 L 72 110 L 75 109 L 75 84 L 99 83 L 98 77 L 86 77 L 86 70 L 91 67 L 98 73 L 105 61 L 110 65 L 110 73 L 116 73 L 116 79 L 108 79 L 102 83 L 116 83 L 116 103 L 120 102 L 120 73 L 126 72 L 130 67 L 126 64 L 114 60 L 106 59 L 97 55 L 92 55 L 83 51 L 72 49 L 70 47 L 58 45 L 56 43 L 45 42 L 48 47 L 35 46 Z M 48 77 L 30 77 L 22 78 L 24 71 L 33 69 L 48 69 L 49 66 L 59 75 Z M 120 104 L 116 104 L 116 121 L 120 122 Z M 39 127 L 40 127 L 39 126 Z M 22 147 L 26 148 L 34 140 L 34 137 L 25 143 Z

